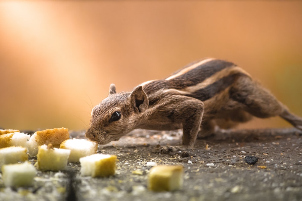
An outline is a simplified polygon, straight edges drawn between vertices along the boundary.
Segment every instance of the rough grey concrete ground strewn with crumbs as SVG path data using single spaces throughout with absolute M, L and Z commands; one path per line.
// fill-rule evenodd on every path
M 70 134 L 83 138 L 84 131 Z M 197 140 L 192 150 L 160 153 L 159 145 L 179 145 L 181 136 L 182 131 L 135 130 L 131 137 L 99 146 L 99 153 L 117 155 L 116 173 L 108 178 L 81 177 L 79 163 L 62 172 L 38 171 L 29 188 L 5 187 L 0 177 L 0 200 L 302 200 L 300 131 L 221 130 Z M 246 156 L 258 162 L 249 165 Z M 182 189 L 149 191 L 150 162 L 183 165 Z

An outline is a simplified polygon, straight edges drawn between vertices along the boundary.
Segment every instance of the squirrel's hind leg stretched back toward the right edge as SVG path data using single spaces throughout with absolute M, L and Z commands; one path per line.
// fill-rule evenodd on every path
M 251 78 L 239 77 L 229 90 L 230 99 L 241 104 L 242 109 L 259 118 L 280 116 L 302 130 L 302 119 L 291 114 L 267 89 Z

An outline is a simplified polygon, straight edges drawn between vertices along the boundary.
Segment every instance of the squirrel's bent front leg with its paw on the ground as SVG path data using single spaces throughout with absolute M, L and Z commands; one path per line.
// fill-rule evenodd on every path
M 175 101 L 175 99 L 174 99 Z M 169 107 L 178 108 L 178 114 L 173 116 L 173 121 L 180 121 L 183 125 L 181 149 L 192 149 L 201 126 L 204 103 L 198 99 L 182 96 L 177 102 Z M 161 147 L 162 153 L 176 151 L 178 147 Z

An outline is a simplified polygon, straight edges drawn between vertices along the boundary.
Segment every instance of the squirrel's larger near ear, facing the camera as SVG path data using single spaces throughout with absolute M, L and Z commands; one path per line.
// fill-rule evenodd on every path
M 143 112 L 148 108 L 149 100 L 142 86 L 137 86 L 130 94 L 130 101 L 134 106 L 134 110 Z

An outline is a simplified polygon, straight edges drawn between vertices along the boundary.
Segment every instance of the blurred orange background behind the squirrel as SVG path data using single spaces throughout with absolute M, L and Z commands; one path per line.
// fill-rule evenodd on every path
M 132 90 L 204 57 L 302 116 L 302 1 L 1 1 L 0 127 L 84 129 L 110 83 Z

